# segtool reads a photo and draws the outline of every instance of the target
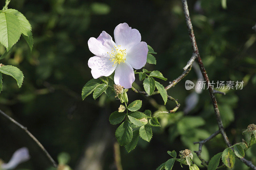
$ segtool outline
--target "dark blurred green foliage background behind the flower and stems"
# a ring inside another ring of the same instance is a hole
[[[194,26],[197,45],[210,80],[244,80],[243,90],[228,90],[226,96],[216,95],[220,114],[232,143],[241,142],[242,131],[256,122],[256,2],[227,0],[227,8],[221,0],[201,0],[201,9],[194,9],[196,1],[188,6]],[[4,1],[1,2],[4,6]],[[142,41],[157,52],[157,63],[146,64],[148,70],[159,70],[167,81],[177,78],[192,55],[187,27],[180,0],[144,1],[84,1],[84,0],[12,0],[9,8],[26,16],[32,26],[34,48],[32,53],[21,37],[12,53],[1,62],[14,65],[24,73],[22,87],[5,76],[0,95],[0,109],[28,127],[30,132],[57,160],[60,152],[71,156],[69,165],[76,168],[80,160],[99,160],[103,169],[115,169],[113,144],[117,125],[108,122],[109,115],[119,107],[119,101],[103,94],[96,101],[92,95],[81,99],[83,85],[92,78],[87,65],[89,51],[87,41],[106,31],[113,37],[115,26],[126,22],[140,31]],[[0,53],[5,48],[0,47]],[[193,90],[184,88],[185,80],[196,81],[192,68],[189,75],[168,91],[178,99],[181,107],[172,115],[159,116],[161,127],[153,128],[150,143],[139,139],[130,153],[121,147],[122,165],[125,169],[155,169],[170,159],[166,151],[193,151],[193,142],[208,137],[218,129],[212,103],[207,90],[200,94],[195,109],[183,116],[185,97]],[[143,88],[136,74],[136,83]],[[142,90],[142,89],[141,89]],[[144,98],[131,90],[129,101],[142,100],[141,111],[150,109],[170,110],[174,102],[166,106],[160,95],[154,100]],[[155,102],[156,101],[156,102]],[[140,110],[139,110],[140,111]],[[12,153],[29,143],[19,135],[15,127],[0,123],[0,158],[8,161]],[[98,142],[95,142],[98,141]],[[99,142],[100,141],[100,142]],[[93,144],[102,146],[95,151]],[[206,146],[206,147],[205,147]],[[220,135],[203,147],[203,158],[209,160],[222,152],[226,145]],[[93,149],[91,152],[84,152]],[[99,149],[98,149],[99,150]],[[39,169],[46,163],[37,161],[39,154],[20,167]],[[246,151],[246,158],[256,164],[256,147]],[[194,160],[200,165],[196,154]],[[91,161],[92,162],[92,161]],[[87,162],[88,163],[88,162]],[[178,163],[173,169],[179,169]],[[187,168],[184,167],[185,169]],[[248,169],[239,160],[235,169]]]

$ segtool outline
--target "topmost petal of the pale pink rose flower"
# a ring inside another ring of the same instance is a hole
[[[137,29],[132,29],[126,23],[116,26],[114,37],[116,44],[127,50],[141,41],[140,32]]]

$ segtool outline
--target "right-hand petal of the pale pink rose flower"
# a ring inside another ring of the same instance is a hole
[[[126,51],[126,62],[134,69],[141,69],[147,62],[148,45],[146,42],[140,42]]]

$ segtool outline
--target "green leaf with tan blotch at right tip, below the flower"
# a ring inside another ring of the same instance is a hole
[[[139,127],[148,123],[147,116],[141,112],[130,112],[128,118],[133,124]]]

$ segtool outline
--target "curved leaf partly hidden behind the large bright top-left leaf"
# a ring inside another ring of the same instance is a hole
[[[32,28],[31,28],[31,25],[29,24],[27,18],[22,13],[20,13],[19,11],[15,10],[15,9],[7,9],[4,12],[11,13],[11,14],[15,15],[19,19],[20,26],[21,26],[21,33],[28,36],[28,33],[31,32]]]

